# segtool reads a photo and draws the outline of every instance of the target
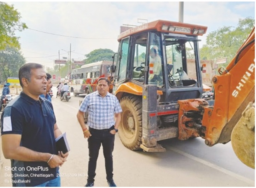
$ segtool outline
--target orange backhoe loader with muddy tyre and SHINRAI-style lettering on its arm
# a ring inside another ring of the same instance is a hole
[[[254,168],[254,29],[214,76],[215,99],[207,101],[200,99],[198,46],[206,31],[202,25],[156,20],[119,35],[110,69],[111,91],[123,110],[120,140],[148,152],[165,151],[158,141],[174,137],[202,137],[207,146],[231,141],[238,158]]]

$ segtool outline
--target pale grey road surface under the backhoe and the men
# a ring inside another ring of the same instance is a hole
[[[84,186],[88,166],[88,145],[76,119],[79,100],[69,102],[55,98],[53,107],[57,124],[66,132],[71,148],[68,161],[60,168],[61,186]],[[72,95],[73,93],[71,93]],[[208,147],[202,138],[188,141],[168,139],[160,142],[166,152],[148,153],[130,151],[115,136],[114,181],[117,186],[255,186],[255,170],[237,159],[231,144]],[[10,160],[4,159],[1,149],[2,169],[0,186],[12,186]],[[98,157],[95,186],[108,186],[102,148]]]

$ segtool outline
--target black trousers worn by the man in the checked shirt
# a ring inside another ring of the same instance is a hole
[[[102,144],[103,155],[105,158],[105,169],[107,174],[107,180],[113,180],[113,156],[115,135],[110,133],[110,130],[114,129],[112,126],[110,129],[92,129],[89,127],[92,136],[88,138],[89,149],[89,163],[88,163],[88,182],[94,182],[96,176],[97,159]]]

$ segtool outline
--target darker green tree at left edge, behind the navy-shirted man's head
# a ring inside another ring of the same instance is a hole
[[[25,64],[25,58],[14,47],[7,47],[0,51],[0,81],[3,83],[8,77],[19,77],[19,68]]]

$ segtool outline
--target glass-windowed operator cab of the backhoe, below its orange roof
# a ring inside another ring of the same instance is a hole
[[[121,38],[115,83],[157,85],[163,93],[159,100],[163,103],[199,98],[203,90],[200,40],[197,35],[188,34],[190,28],[184,28],[178,33],[163,28],[145,29]]]

